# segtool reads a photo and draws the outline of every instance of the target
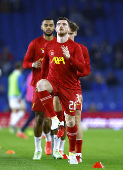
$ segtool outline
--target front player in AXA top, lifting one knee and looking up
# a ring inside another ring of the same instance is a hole
[[[69,163],[78,164],[75,154],[77,126],[76,89],[78,86],[78,71],[83,73],[85,61],[79,44],[68,37],[69,20],[61,17],[57,20],[57,41],[46,43],[42,63],[41,80],[37,83],[39,98],[45,109],[54,112],[51,94],[57,95],[65,111],[67,136],[69,139]],[[47,75],[47,68],[49,72]],[[47,75],[47,76],[46,76]],[[54,153],[54,150],[53,150]]]

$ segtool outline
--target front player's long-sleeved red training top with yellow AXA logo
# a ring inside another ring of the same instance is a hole
[[[68,47],[69,59],[66,59],[63,55],[61,48],[63,45]],[[48,67],[49,73],[46,77]],[[79,44],[71,39],[68,39],[65,43],[58,43],[57,40],[46,43],[41,78],[52,79],[66,88],[76,89],[77,71],[84,72],[84,70],[85,61]]]

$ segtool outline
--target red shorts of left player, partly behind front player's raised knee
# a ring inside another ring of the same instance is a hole
[[[33,98],[32,98],[32,111],[35,112],[45,112],[45,117],[50,117],[49,114],[45,111],[43,104],[41,103],[38,93],[35,92],[36,87],[33,87]]]

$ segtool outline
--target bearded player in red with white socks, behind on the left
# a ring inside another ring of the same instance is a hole
[[[45,18],[42,21],[41,29],[43,30],[43,36],[38,37],[31,41],[28,46],[27,53],[23,60],[23,67],[25,69],[32,68],[32,81],[33,86],[33,99],[32,99],[32,110],[35,111],[35,124],[34,124],[34,135],[35,135],[35,152],[34,160],[40,159],[42,155],[41,148],[41,134],[42,130],[46,134],[46,147],[45,153],[50,155],[51,150],[51,118],[54,115],[48,115],[45,111],[43,104],[40,102],[38,93],[36,93],[36,84],[41,79],[41,67],[44,57],[44,46],[48,41],[56,39],[53,36],[54,32],[54,21],[51,18]],[[48,71],[48,68],[47,68]],[[45,112],[45,116],[44,116]]]

